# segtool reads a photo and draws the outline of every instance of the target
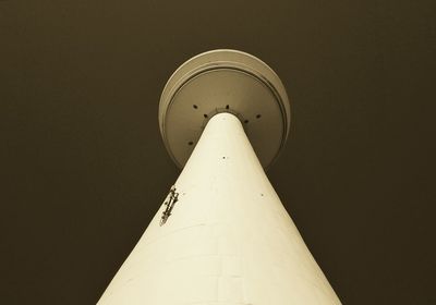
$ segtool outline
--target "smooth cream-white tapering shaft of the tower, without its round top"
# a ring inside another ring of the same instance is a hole
[[[98,304],[340,304],[234,115],[210,119],[175,187]]]

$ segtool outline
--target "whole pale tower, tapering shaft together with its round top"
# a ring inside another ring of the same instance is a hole
[[[268,65],[234,50],[192,58],[159,124],[182,173],[98,304],[340,304],[264,172],[290,125]]]

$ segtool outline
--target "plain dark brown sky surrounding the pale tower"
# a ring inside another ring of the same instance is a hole
[[[434,1],[0,1],[0,298],[95,304],[179,170],[157,109],[215,48],[272,66],[268,171],[344,304],[436,304]]]

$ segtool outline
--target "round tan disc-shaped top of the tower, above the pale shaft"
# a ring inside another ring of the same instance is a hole
[[[213,50],[183,63],[159,103],[164,143],[183,168],[207,121],[237,115],[264,168],[277,158],[289,133],[290,105],[283,84],[262,60],[237,50]]]

